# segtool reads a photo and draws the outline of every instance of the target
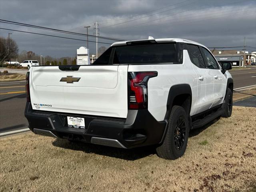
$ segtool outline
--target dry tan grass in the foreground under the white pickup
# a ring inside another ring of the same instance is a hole
[[[0,139],[0,191],[256,190],[256,108],[234,107],[190,133],[185,155],[122,150],[24,134]],[[207,142],[206,142],[207,141]]]

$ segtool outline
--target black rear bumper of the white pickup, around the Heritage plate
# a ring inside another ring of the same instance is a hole
[[[85,129],[68,127],[67,116],[85,118]],[[127,118],[123,119],[43,112],[33,110],[27,102],[25,117],[35,134],[120,148],[158,144],[166,127],[165,121],[158,122],[147,109],[128,110]]]

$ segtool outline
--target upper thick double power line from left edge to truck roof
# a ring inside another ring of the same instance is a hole
[[[69,31],[65,31],[65,30],[59,30],[59,29],[54,29],[54,28],[30,25],[30,24],[14,22],[14,21],[9,21],[9,20],[2,20],[2,19],[0,19],[0,22],[7,23],[7,24],[26,26],[26,27],[32,27],[32,28],[39,28],[39,29],[50,30],[50,31],[56,31],[56,32],[62,32],[62,33],[67,33],[67,34],[74,34],[74,35],[79,35],[79,36],[96,37],[94,35],[86,35],[86,34],[82,34],[82,33],[69,32]],[[110,37],[103,37],[103,36],[98,36],[98,38],[106,39],[106,40],[115,40],[115,41],[126,41],[125,39],[117,39],[117,38],[110,38]]]

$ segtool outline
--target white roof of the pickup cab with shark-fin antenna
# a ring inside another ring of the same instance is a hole
[[[144,41],[156,41],[156,42],[182,42],[182,43],[190,43],[190,44],[196,44],[203,47],[206,47],[198,42],[194,42],[191,40],[181,39],[181,38],[162,38],[162,39],[154,39],[152,37],[148,37],[148,39],[142,39],[142,40],[131,40],[131,41],[121,41],[121,42],[115,42],[111,46],[119,46],[119,45],[126,45],[129,42],[144,42]]]

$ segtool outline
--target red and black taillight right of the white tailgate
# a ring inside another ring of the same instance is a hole
[[[128,109],[148,107],[148,80],[157,72],[128,72]]]

